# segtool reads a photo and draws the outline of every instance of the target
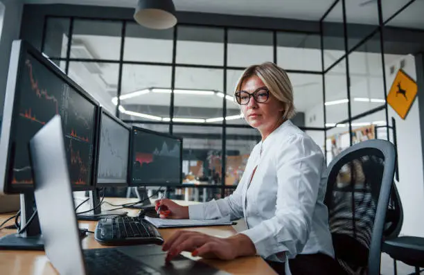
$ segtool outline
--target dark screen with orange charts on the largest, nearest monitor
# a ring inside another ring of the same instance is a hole
[[[9,180],[12,184],[33,184],[28,141],[60,114],[71,182],[91,184],[96,105],[33,55],[24,54],[15,90],[14,131],[10,137],[13,168]]]

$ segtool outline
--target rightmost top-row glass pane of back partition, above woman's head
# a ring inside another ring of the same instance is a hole
[[[321,37],[277,33],[277,64],[286,70],[322,71]]]

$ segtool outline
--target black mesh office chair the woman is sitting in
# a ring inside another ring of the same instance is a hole
[[[395,163],[394,145],[375,139],[344,150],[327,168],[324,203],[335,258],[347,274],[380,274]]]

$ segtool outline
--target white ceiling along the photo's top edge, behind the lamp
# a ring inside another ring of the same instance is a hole
[[[210,12],[227,15],[250,15],[318,21],[330,8],[334,0],[174,0],[180,11]],[[407,0],[382,1],[384,19],[389,18],[407,3]],[[136,0],[24,0],[24,3],[67,3],[91,6],[118,6],[134,8]],[[341,4],[330,12],[327,21],[342,21]],[[349,23],[376,24],[378,18],[377,0],[346,0]],[[416,0],[400,16],[391,22],[392,26],[424,28],[424,0]]]

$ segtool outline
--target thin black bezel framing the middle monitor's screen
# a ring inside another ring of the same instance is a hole
[[[112,113],[108,112],[107,109],[105,109],[105,107],[100,107],[100,115],[99,115],[99,121],[98,121],[98,136],[97,136],[97,152],[98,155],[96,157],[96,181],[94,182],[94,186],[96,186],[96,188],[103,188],[103,187],[122,187],[128,186],[128,179],[130,179],[130,154],[131,154],[131,144],[130,141],[128,141],[128,157],[127,157],[127,179],[125,183],[116,183],[116,182],[110,182],[110,183],[98,183],[98,166],[100,163],[100,136],[101,136],[101,129],[102,129],[102,115],[105,114],[107,117],[111,118],[113,121],[115,121],[116,123],[118,123],[119,125],[123,126],[125,129],[128,130],[128,139],[131,139],[131,134],[132,134],[132,128],[130,125],[127,125],[126,123],[124,123],[123,121],[121,121],[119,118],[117,118],[116,116],[114,116]]]

